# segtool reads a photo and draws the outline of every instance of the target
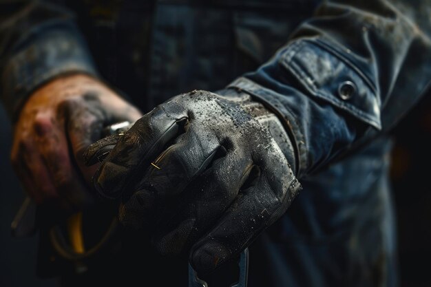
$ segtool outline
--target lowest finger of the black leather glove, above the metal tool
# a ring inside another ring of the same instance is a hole
[[[277,180],[261,176],[255,185],[238,195],[215,228],[191,248],[190,262],[198,273],[206,275],[238,257],[264,228],[286,211],[291,199],[280,195],[287,195],[291,187],[280,183],[285,179]],[[284,191],[277,190],[280,188]]]

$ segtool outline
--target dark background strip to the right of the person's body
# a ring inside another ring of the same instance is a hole
[[[392,185],[403,287],[431,286],[431,91],[392,132]]]

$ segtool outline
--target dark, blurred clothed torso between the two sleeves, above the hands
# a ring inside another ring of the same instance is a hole
[[[310,17],[312,0],[71,1],[102,76],[149,111],[255,70]]]

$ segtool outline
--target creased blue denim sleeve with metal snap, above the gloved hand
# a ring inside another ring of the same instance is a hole
[[[228,87],[284,119],[295,172],[306,176],[386,133],[417,103],[431,78],[430,5],[324,1],[272,59]]]

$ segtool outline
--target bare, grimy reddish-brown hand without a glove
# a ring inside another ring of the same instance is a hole
[[[61,214],[92,203],[88,184],[95,168],[83,151],[105,125],[142,114],[101,81],[84,74],[62,76],[37,89],[14,125],[12,166],[38,204]]]

